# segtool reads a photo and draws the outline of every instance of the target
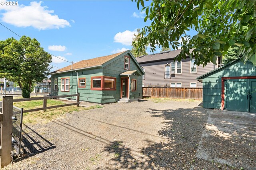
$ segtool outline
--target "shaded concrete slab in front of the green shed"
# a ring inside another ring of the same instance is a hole
[[[256,113],[207,109],[196,157],[236,168],[256,169]]]

